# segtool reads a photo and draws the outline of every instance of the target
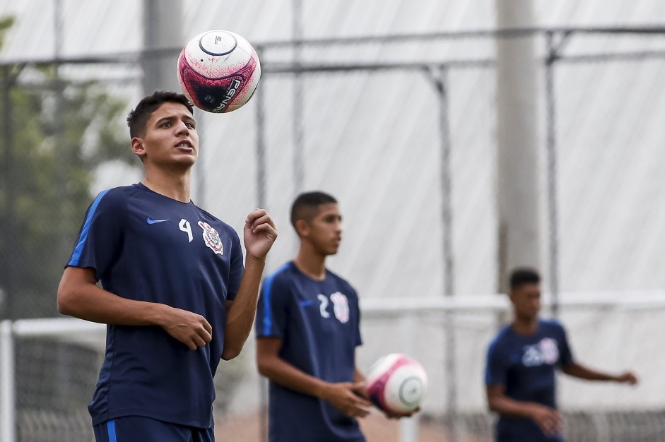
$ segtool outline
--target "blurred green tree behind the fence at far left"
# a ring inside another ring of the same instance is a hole
[[[3,30],[13,20],[0,20]],[[0,46],[1,47],[1,46]],[[2,66],[0,290],[4,315],[57,315],[59,278],[93,198],[95,169],[136,164],[122,126],[125,103],[58,66]]]

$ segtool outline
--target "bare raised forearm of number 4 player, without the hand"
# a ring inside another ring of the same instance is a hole
[[[224,350],[222,359],[228,361],[240,354],[252,331],[254,316],[257,314],[259,301],[259,285],[261,275],[266,265],[265,258],[252,258],[247,256],[245,272],[233,304],[226,316],[226,329],[224,333]]]

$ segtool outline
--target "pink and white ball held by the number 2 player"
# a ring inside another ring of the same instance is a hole
[[[387,412],[411,412],[420,407],[427,390],[427,374],[420,362],[401,353],[379,358],[367,371],[367,393]]]

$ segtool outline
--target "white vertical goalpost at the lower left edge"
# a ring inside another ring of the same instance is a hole
[[[14,342],[10,320],[0,323],[0,441],[16,441]]]

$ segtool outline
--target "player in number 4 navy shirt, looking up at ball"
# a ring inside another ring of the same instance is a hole
[[[61,277],[59,311],[108,324],[88,406],[98,442],[213,441],[213,376],[252,330],[277,232],[265,210],[249,213],[243,266],[235,230],[190,200],[192,112],[162,91],[130,112],[145,178],[95,198]]]

